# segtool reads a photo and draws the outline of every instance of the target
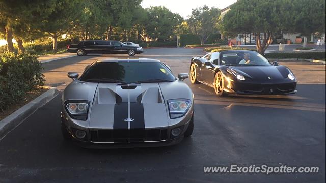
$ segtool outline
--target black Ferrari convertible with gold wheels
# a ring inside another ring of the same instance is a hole
[[[286,95],[296,93],[296,78],[289,68],[269,63],[255,51],[228,50],[193,57],[191,82],[213,87],[216,95]]]

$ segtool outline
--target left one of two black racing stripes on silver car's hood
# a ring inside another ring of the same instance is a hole
[[[128,118],[128,104],[115,104],[113,121],[114,142],[128,142],[128,122],[124,121],[126,118]]]

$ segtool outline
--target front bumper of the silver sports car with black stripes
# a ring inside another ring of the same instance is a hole
[[[178,123],[169,127],[158,127],[151,129],[95,129],[80,125],[80,121],[72,119],[66,110],[61,112],[62,124],[66,127],[73,141],[85,148],[132,148],[169,146],[182,141],[185,131],[193,115],[193,106],[187,114],[180,118]],[[90,118],[90,117],[89,117]],[[88,124],[89,121],[84,121]],[[171,130],[180,128],[179,136],[173,136]],[[83,130],[86,136],[78,139],[76,130]]]

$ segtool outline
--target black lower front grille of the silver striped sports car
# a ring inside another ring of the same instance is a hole
[[[114,129],[114,130],[90,130],[92,142],[144,142],[161,141],[167,139],[167,129]]]

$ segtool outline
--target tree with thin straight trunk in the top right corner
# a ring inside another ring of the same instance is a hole
[[[324,0],[279,0],[284,11],[280,21],[284,31],[300,33],[304,36],[304,47],[307,47],[307,36],[316,32],[325,32],[325,1]]]

